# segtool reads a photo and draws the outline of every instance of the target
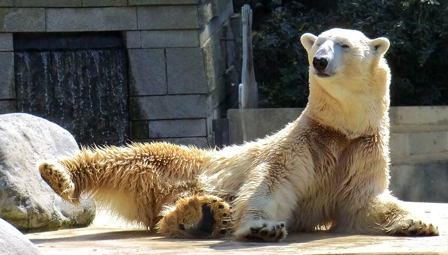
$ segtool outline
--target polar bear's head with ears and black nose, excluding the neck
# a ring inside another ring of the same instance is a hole
[[[371,67],[378,66],[389,49],[387,38],[371,40],[360,31],[341,28],[330,29],[319,37],[306,33],[300,39],[308,52],[310,78],[320,84],[367,79],[372,75]]]

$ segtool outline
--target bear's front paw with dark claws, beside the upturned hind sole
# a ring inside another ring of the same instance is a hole
[[[238,240],[255,240],[275,242],[282,240],[287,235],[285,223],[256,220],[245,224],[235,232]]]

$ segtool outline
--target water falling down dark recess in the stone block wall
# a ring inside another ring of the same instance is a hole
[[[59,124],[82,145],[126,142],[124,50],[15,51],[14,58],[18,111]]]

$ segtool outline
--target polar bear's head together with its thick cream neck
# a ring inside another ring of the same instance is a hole
[[[334,28],[319,36],[306,33],[301,42],[310,64],[309,111],[347,133],[376,129],[389,107],[390,72],[383,58],[389,40]]]

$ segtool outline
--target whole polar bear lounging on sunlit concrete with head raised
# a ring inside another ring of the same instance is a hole
[[[278,241],[287,231],[439,235],[389,190],[386,38],[306,33],[310,95],[300,117],[240,146],[82,149],[39,166],[64,199],[82,193],[170,237]]]

